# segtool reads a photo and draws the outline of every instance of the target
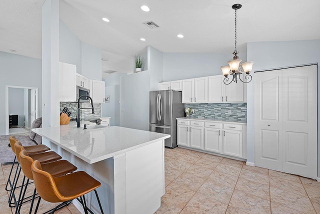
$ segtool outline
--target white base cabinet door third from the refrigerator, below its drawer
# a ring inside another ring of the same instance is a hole
[[[222,152],[222,130],[217,128],[204,128],[204,150]]]

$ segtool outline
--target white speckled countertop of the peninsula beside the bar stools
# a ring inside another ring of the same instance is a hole
[[[170,137],[169,134],[119,126],[83,129],[83,125],[77,128],[70,124],[32,128],[32,131],[88,163],[107,159]]]

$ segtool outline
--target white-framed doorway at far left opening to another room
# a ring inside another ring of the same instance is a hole
[[[5,134],[9,134],[10,125],[14,125],[16,127],[30,127],[32,121],[39,116],[38,90],[39,89],[37,87],[5,86]],[[18,108],[12,109],[12,107],[15,106],[18,106]],[[18,121],[15,121],[15,123],[12,124],[11,117],[17,118]]]

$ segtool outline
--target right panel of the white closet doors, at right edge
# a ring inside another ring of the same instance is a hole
[[[282,70],[283,171],[317,177],[316,65]]]

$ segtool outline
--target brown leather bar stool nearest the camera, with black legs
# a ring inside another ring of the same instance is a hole
[[[34,186],[40,195],[36,204],[35,212],[39,206],[40,199],[43,198],[48,202],[62,202],[56,206],[51,213],[53,213],[61,205],[70,200],[77,199],[81,202],[82,207],[87,211],[92,211],[86,206],[84,194],[94,191],[98,201],[101,213],[103,213],[102,206],[98,197],[96,188],[101,185],[99,181],[88,175],[84,171],[76,171],[59,177],[52,177],[46,171],[43,171],[38,160],[34,160],[31,164],[31,171],[34,180]]]

